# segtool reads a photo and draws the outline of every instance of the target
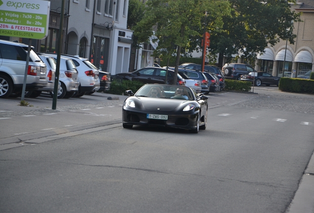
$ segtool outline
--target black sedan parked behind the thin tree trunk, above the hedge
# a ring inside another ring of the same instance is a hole
[[[167,82],[166,81],[167,75]],[[172,84],[174,71],[159,67],[146,67],[133,72],[118,73],[115,76],[122,77],[123,80],[137,80],[143,83]],[[177,75],[177,85],[185,85],[185,81],[179,74]]]

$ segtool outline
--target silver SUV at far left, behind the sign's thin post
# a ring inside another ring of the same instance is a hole
[[[30,51],[25,91],[38,90],[48,83],[46,65],[33,48]],[[22,93],[27,49],[26,44],[0,40],[0,98]]]

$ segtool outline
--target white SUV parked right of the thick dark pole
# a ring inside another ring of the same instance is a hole
[[[55,53],[46,53],[51,54],[54,57],[57,55]],[[88,59],[81,58],[79,56],[72,56],[61,54],[63,58],[72,59],[77,70],[79,71],[79,91],[74,94],[73,97],[81,97],[85,93],[89,93],[93,90],[97,91],[100,88],[100,81],[98,79],[99,70],[92,64]]]

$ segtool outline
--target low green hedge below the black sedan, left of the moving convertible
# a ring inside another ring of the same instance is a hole
[[[113,80],[110,85],[110,90],[104,91],[104,93],[123,95],[126,90],[132,90],[135,93],[144,84],[140,81],[130,81],[130,80]]]

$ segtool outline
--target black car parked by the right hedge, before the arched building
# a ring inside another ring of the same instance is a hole
[[[280,77],[276,77],[271,75],[270,73],[257,71],[257,72],[250,72],[247,75],[241,75],[240,80],[242,81],[251,81],[254,82],[255,86],[261,86],[262,84],[269,86],[269,85],[279,85]]]

